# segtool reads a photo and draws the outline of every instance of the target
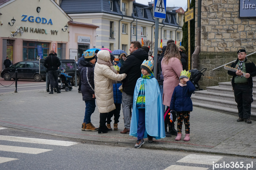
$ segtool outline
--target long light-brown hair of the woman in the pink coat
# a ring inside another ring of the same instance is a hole
[[[177,58],[179,59],[179,62],[181,63],[180,59],[181,56],[179,54],[179,48],[174,43],[169,43],[166,47],[166,51],[164,53],[163,61],[165,64],[168,64],[171,58]]]

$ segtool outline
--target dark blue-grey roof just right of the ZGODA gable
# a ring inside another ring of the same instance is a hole
[[[117,0],[113,1],[113,11],[110,10],[108,0],[62,0],[61,8],[67,14],[98,13],[122,15]]]

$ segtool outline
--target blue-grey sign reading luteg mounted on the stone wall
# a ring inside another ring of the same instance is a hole
[[[239,1],[239,18],[256,17],[256,1],[240,0]]]

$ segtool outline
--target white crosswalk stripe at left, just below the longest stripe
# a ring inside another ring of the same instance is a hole
[[[20,146],[9,146],[9,145],[0,145],[1,151],[7,152],[18,152],[18,153],[29,153],[29,154],[38,154],[50,151],[50,149],[40,149],[40,148],[28,148]]]

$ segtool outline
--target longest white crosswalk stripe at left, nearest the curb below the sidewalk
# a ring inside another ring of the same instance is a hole
[[[0,140],[7,140],[12,142],[26,142],[46,145],[58,145],[58,146],[71,146],[77,144],[77,142],[69,142],[63,140],[50,140],[50,139],[37,139],[30,137],[17,137],[17,136],[4,136],[0,135]]]

